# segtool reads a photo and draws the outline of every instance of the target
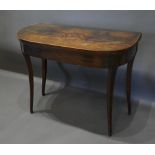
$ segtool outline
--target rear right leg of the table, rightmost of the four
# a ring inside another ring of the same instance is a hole
[[[127,104],[128,104],[128,115],[131,114],[131,76],[132,76],[132,66],[134,59],[132,59],[127,64],[127,74],[126,74],[126,95],[127,95]]]

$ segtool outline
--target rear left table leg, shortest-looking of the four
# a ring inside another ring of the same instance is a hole
[[[42,59],[42,95],[45,96],[45,85],[47,75],[47,59]]]

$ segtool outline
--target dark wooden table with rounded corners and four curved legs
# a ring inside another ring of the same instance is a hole
[[[142,34],[101,28],[36,24],[21,29],[17,38],[26,60],[30,83],[30,112],[33,113],[34,81],[31,57],[42,61],[42,95],[45,95],[47,60],[94,68],[107,75],[108,135],[112,135],[113,89],[117,68],[127,64],[126,96],[131,114],[131,73]],[[95,103],[94,103],[95,104]]]

